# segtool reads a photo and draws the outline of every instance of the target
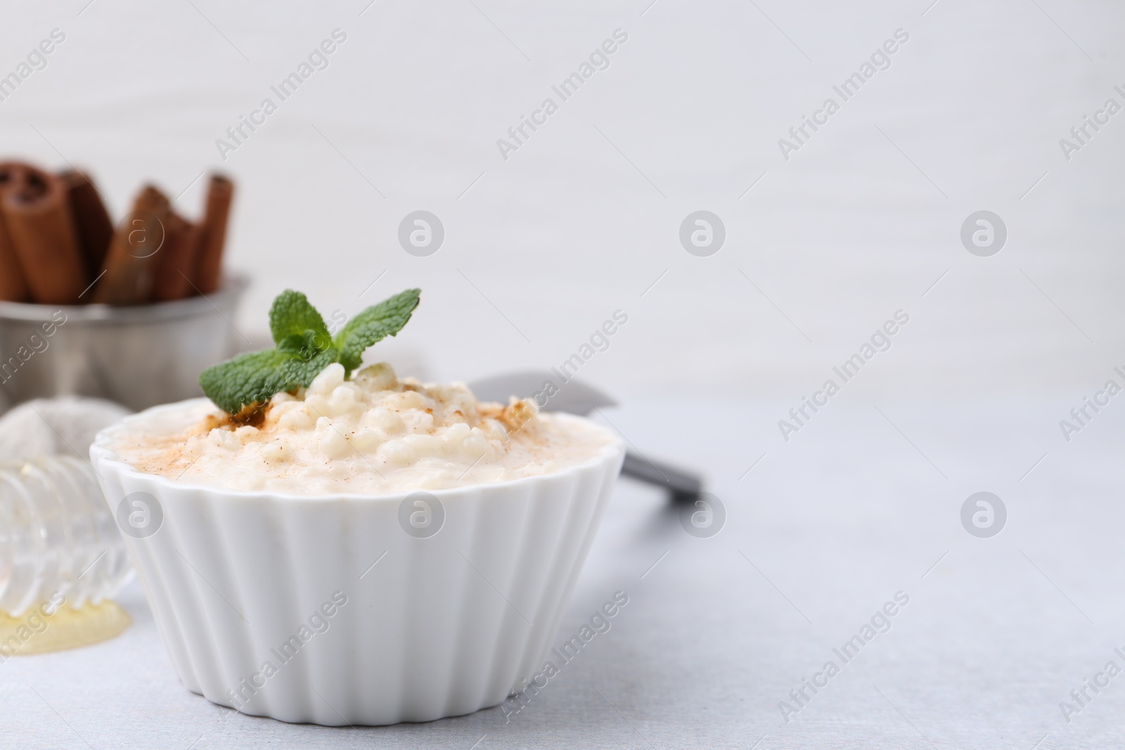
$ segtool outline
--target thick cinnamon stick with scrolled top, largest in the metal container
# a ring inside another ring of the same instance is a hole
[[[90,280],[63,181],[28,168],[26,179],[0,196],[0,213],[33,300],[79,304]]]

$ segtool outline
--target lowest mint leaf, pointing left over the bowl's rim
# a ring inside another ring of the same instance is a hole
[[[335,349],[310,356],[279,349],[248,352],[204,370],[199,385],[220,409],[238,414],[249,406],[264,404],[282,390],[308,386],[335,361]]]

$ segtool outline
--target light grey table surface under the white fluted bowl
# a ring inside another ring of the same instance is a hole
[[[132,584],[120,638],[0,665],[0,746],[1122,747],[1125,677],[1088,690],[1070,722],[1059,705],[1107,661],[1125,666],[1125,412],[1104,409],[1066,443],[1071,406],[842,399],[788,443],[789,405],[606,412],[646,453],[704,468],[727,519],[690,536],[622,481],[556,643],[614,591],[629,604],[510,721],[493,708],[328,729],[219,710],[180,685]],[[961,524],[979,490],[1008,510],[991,539]],[[909,604],[844,663],[834,648],[897,591]],[[829,660],[839,674],[784,721],[778,702]]]

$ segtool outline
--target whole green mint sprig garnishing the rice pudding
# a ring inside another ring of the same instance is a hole
[[[344,367],[346,377],[361,364],[363,350],[403,329],[421,293],[420,289],[407,289],[372,305],[333,337],[305,295],[286,289],[270,307],[270,333],[276,346],[240,354],[204,370],[199,386],[220,409],[245,417],[274,394],[308,387],[333,362]]]

